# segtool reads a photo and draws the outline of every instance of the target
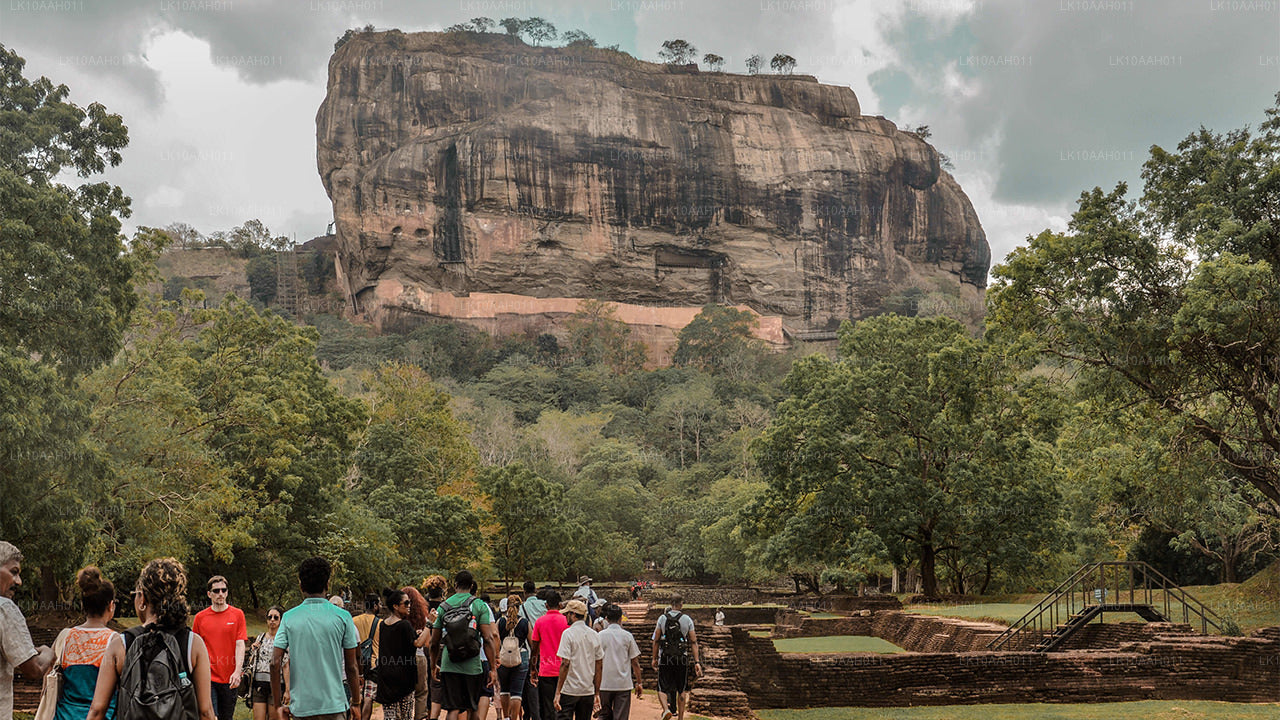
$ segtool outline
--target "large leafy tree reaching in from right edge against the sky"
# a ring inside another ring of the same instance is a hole
[[[1181,416],[1280,518],[1280,95],[1254,135],[1153,146],[1144,193],[1084,192],[993,270],[988,328],[1119,404]]]

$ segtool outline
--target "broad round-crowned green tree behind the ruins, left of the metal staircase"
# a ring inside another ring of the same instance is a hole
[[[940,555],[989,578],[1056,542],[1052,455],[998,354],[955,320],[896,315],[846,324],[840,354],[795,365],[759,445],[755,512],[782,557],[837,532],[873,559],[869,532],[936,596]]]

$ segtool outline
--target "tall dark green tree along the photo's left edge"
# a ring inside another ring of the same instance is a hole
[[[41,594],[55,600],[92,532],[99,471],[74,378],[120,347],[161,238],[143,229],[125,247],[128,197],[91,179],[120,163],[120,117],[24,67],[0,46],[0,536],[41,559]],[[59,182],[70,173],[87,182]]]

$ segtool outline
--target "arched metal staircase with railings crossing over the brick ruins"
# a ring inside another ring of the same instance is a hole
[[[987,646],[1033,652],[1057,650],[1106,612],[1134,612],[1148,623],[1181,621],[1208,634],[1222,619],[1158,570],[1138,561],[1093,562],[1071,574]]]

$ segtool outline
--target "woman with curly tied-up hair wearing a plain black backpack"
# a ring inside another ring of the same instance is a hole
[[[198,715],[201,720],[214,720],[209,648],[204,638],[187,628],[187,570],[182,562],[173,557],[147,562],[133,591],[133,609],[142,624],[118,633],[106,644],[87,720],[105,720],[113,702],[116,717],[133,717],[143,697],[161,693],[177,693],[175,710],[182,717]],[[141,662],[140,656],[145,652],[150,656],[157,646],[152,664],[165,662],[186,673],[177,687],[169,682],[173,678],[169,673],[146,673],[141,679],[120,676],[127,662]]]

